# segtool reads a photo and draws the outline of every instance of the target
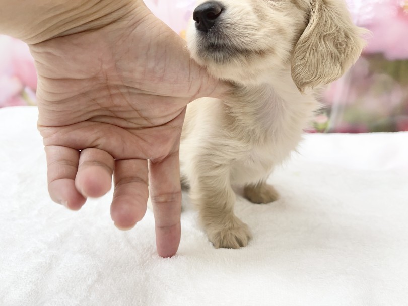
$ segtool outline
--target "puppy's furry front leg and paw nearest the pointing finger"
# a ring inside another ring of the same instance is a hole
[[[239,249],[248,244],[251,233],[248,225],[234,214],[235,193],[229,184],[229,173],[220,176],[217,172],[217,176],[196,178],[190,189],[191,201],[214,246]]]

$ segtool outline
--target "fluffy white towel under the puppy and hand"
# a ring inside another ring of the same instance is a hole
[[[36,119],[0,109],[0,305],[408,305],[408,132],[307,135],[278,202],[238,197],[246,248],[214,249],[187,208],[163,259],[151,211],[121,232],[112,193],[51,202]]]

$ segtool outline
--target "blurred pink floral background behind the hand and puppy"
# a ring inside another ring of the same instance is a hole
[[[145,0],[184,35],[195,0]],[[362,57],[321,97],[310,132],[408,131],[408,0],[347,0],[354,22],[372,32]],[[33,59],[23,42],[0,35],[0,107],[35,105]]]

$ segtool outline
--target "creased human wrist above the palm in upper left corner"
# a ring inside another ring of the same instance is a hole
[[[142,0],[0,0],[0,33],[28,44],[109,25],[138,7]]]

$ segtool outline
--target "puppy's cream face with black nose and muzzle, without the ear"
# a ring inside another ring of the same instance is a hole
[[[215,77],[237,83],[266,81],[271,71],[290,63],[307,24],[296,0],[200,3],[187,29],[189,51]]]

